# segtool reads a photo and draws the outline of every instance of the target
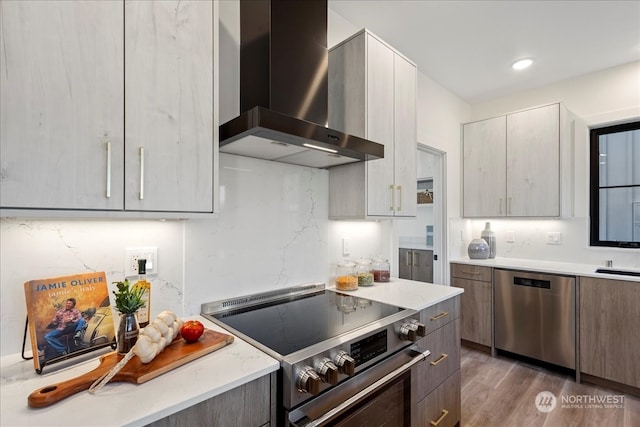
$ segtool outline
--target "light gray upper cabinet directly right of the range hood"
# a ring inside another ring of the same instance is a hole
[[[384,159],[329,171],[329,217],[416,215],[415,65],[367,30],[329,52],[329,127],[383,144]]]

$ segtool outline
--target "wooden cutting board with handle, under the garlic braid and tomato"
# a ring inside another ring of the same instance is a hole
[[[165,347],[149,363],[142,363],[139,357],[134,356],[110,382],[142,384],[232,342],[233,336],[210,329],[205,329],[200,339],[194,343],[187,343],[178,336],[171,345]],[[31,393],[27,399],[29,406],[43,408],[73,394],[88,390],[95,380],[109,372],[123,357],[115,351],[101,356],[100,365],[94,370],[67,381],[42,387]]]

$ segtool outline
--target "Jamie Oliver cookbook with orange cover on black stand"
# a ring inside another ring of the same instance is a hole
[[[30,280],[24,291],[36,372],[46,364],[106,346],[115,348],[104,272]]]

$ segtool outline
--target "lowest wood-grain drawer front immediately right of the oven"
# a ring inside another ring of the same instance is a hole
[[[418,403],[415,425],[452,427],[460,421],[460,371]]]

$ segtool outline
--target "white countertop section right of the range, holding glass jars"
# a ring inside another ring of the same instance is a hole
[[[329,289],[414,310],[422,310],[464,292],[463,289],[452,286],[434,285],[396,277],[392,277],[390,282],[376,282],[373,286],[368,287],[360,286],[355,291],[337,291],[335,287]]]

